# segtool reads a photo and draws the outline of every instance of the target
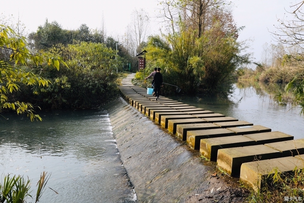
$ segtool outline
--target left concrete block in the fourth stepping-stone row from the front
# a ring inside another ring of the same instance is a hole
[[[212,124],[212,123],[209,123]],[[200,130],[200,134],[187,133],[187,144],[192,149],[199,149],[201,139],[212,137],[226,137],[235,135],[235,133],[231,130],[227,130],[226,128],[218,128],[218,129],[210,129],[210,130]]]

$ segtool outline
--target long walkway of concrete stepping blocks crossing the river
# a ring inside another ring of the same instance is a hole
[[[134,74],[122,82],[122,97],[168,133],[198,150],[207,160],[216,161],[217,167],[257,190],[263,179],[278,168],[290,172],[295,166],[304,168],[304,139],[282,132],[239,121],[232,117],[196,108],[169,98],[155,97],[147,90],[131,83]],[[293,157],[295,156],[295,157]],[[286,162],[288,167],[279,163]],[[263,166],[263,167],[261,167]]]

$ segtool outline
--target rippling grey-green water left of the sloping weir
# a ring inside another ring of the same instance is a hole
[[[0,172],[32,180],[51,173],[40,202],[134,202],[107,112],[40,112],[43,122],[0,120]],[[28,200],[31,202],[31,200]]]

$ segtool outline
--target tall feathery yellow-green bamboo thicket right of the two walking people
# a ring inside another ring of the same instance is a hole
[[[194,93],[198,88],[219,92],[231,87],[235,69],[249,63],[249,55],[240,54],[242,45],[234,35],[216,36],[218,30],[214,28],[197,38],[195,30],[184,30],[182,24],[180,30],[164,38],[149,38],[148,70],[161,67],[164,81],[187,93]]]

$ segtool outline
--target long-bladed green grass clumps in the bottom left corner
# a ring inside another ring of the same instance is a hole
[[[43,194],[44,187],[50,178],[50,174],[46,172],[41,173],[40,180],[37,183],[38,189],[36,192],[36,202],[39,201]],[[30,180],[24,179],[23,176],[4,176],[0,183],[0,202],[1,203],[25,203],[30,195]]]

